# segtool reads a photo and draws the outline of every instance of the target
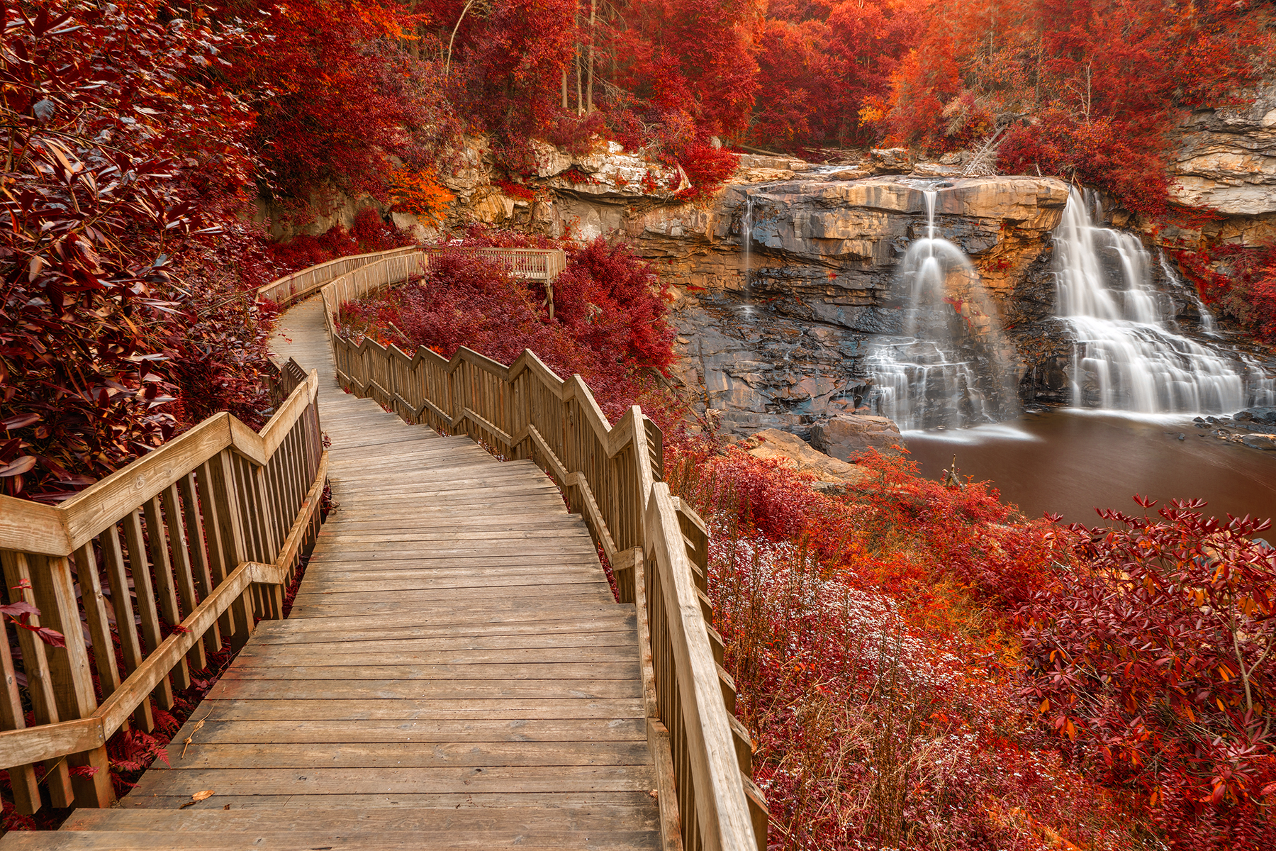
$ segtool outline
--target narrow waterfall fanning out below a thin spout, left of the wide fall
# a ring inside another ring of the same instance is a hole
[[[923,194],[926,235],[909,245],[902,267],[905,336],[869,352],[870,404],[903,430],[1005,418],[1017,406],[997,313],[966,254],[938,236],[938,190]]]

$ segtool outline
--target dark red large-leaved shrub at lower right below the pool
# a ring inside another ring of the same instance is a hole
[[[1252,540],[1267,521],[1202,505],[1074,527],[1081,566],[1017,614],[1025,695],[1078,764],[1145,796],[1171,847],[1272,847],[1276,550]]]

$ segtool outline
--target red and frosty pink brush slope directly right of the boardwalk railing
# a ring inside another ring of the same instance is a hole
[[[1129,848],[1131,810],[1041,734],[1008,612],[1071,535],[870,454],[845,495],[674,441],[780,848]],[[1012,582],[1013,581],[1013,582]]]

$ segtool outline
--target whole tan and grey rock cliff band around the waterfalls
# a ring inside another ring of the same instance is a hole
[[[1276,85],[1248,107],[1192,114],[1178,139],[1176,200],[1225,217],[1148,239],[1276,236]],[[1059,180],[962,177],[961,153],[915,162],[907,151],[873,151],[855,166],[745,156],[730,185],[689,204],[680,202],[690,185],[680,168],[615,143],[570,153],[533,140],[531,152],[530,172],[512,182],[486,140],[467,139],[441,177],[457,200],[440,230],[482,222],[579,241],[628,239],[672,286],[689,398],[727,431],[818,439],[828,417],[868,412],[865,360],[875,336],[902,330],[900,263],[926,233],[928,190],[937,191],[937,236],[971,258],[983,287],[949,278],[954,322],[977,333],[995,314],[1008,329],[1008,338],[989,338],[997,352],[971,356],[1008,359],[1023,399],[1067,401],[1071,344],[1053,318],[1050,267],[1050,232],[1068,199]],[[352,219],[355,209],[334,216]],[[426,239],[440,233],[394,219]],[[1179,320],[1194,324],[1193,293],[1164,283]],[[1000,392],[1016,393],[1013,383]]]

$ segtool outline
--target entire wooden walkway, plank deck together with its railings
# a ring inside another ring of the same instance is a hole
[[[563,262],[505,254],[532,277]],[[59,508],[0,498],[8,586],[74,637],[18,635],[29,727],[0,642],[0,764],[22,811],[78,805],[0,851],[766,847],[708,535],[660,481],[660,431],[637,407],[609,424],[531,352],[507,367],[334,333],[345,300],[430,256],[265,288],[323,296],[282,318],[260,434],[222,413]],[[114,801],[106,740],[149,730],[226,643],[167,763]]]

